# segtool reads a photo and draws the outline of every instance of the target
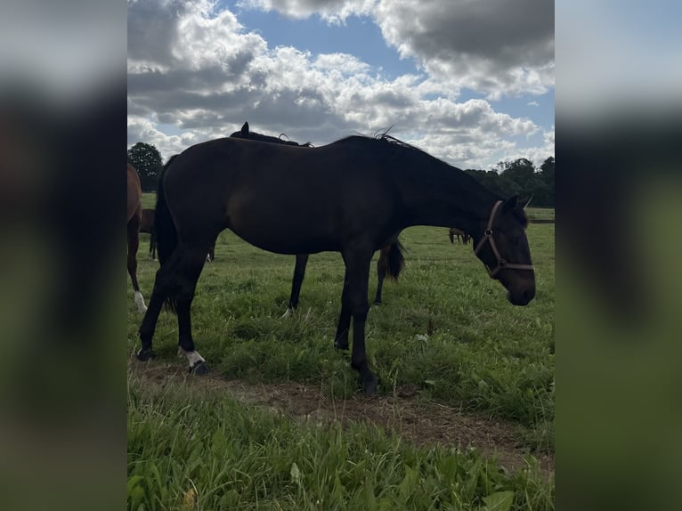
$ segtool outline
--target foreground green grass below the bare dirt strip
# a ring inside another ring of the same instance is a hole
[[[314,426],[211,392],[129,378],[129,509],[551,509],[528,458],[416,448],[363,424]]]

